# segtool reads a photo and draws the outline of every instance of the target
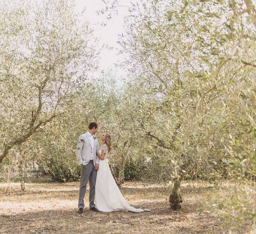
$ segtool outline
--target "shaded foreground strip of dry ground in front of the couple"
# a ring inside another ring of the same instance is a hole
[[[115,211],[83,214],[74,209],[52,209],[0,216],[0,233],[219,233],[223,220],[211,213],[198,215],[196,203],[186,203],[178,211],[165,202],[144,202],[136,208],[150,212]]]

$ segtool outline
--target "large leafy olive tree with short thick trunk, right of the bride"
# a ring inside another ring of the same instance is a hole
[[[251,187],[255,172],[252,2],[144,1],[142,7],[130,9],[121,52],[130,75],[145,87],[142,93],[157,99],[145,101],[139,109],[152,151],[165,152],[162,158],[172,164],[173,177],[179,180],[242,176]],[[181,201],[178,190],[173,192],[176,196],[170,200]],[[241,203],[236,208],[246,213]]]

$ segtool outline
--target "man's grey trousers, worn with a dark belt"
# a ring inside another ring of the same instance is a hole
[[[96,176],[97,176],[97,171],[94,170],[93,162],[88,162],[88,164],[83,165],[81,169],[78,208],[84,208],[84,195],[86,192],[86,185],[88,180],[90,184],[89,205],[90,205],[90,208],[95,207],[94,197],[95,197]]]

